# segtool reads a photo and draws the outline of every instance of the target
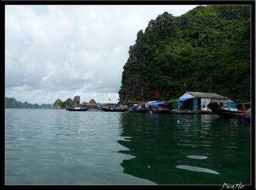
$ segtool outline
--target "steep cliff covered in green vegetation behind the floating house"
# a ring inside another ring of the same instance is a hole
[[[121,103],[168,101],[185,91],[251,101],[251,6],[198,6],[180,17],[164,12],[137,33],[123,69]]]

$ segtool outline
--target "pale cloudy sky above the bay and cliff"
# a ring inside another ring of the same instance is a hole
[[[137,33],[197,5],[5,5],[5,97],[53,104],[119,102]]]

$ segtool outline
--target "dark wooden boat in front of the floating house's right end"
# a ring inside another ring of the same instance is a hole
[[[219,117],[231,118],[231,119],[241,118],[241,117],[251,118],[251,112],[241,111],[236,109],[228,110],[226,108],[220,108],[220,105],[215,102],[211,102],[210,104],[207,105],[207,107]]]

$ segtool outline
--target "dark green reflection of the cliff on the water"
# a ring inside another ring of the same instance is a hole
[[[235,171],[237,176],[231,178],[226,166],[235,159],[234,152],[236,156],[242,155],[237,149],[244,150],[243,144],[233,144],[232,140],[239,139],[242,133],[237,131],[238,121],[220,120],[215,115],[130,113],[122,114],[120,123],[125,140],[118,143],[128,150],[119,152],[133,156],[120,163],[124,173],[158,185],[219,185],[225,180],[234,184],[239,181],[239,172]],[[246,171],[243,173],[248,176]]]

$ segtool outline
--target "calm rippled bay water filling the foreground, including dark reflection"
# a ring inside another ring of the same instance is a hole
[[[5,109],[6,185],[224,183],[252,183],[251,124],[242,120]]]

